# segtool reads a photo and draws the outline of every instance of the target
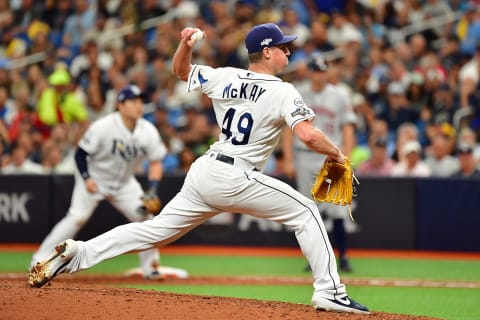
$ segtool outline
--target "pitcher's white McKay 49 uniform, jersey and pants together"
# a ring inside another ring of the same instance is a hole
[[[221,212],[249,214],[282,223],[295,237],[314,277],[314,296],[346,297],[335,254],[317,205],[290,185],[258,171],[280,139],[314,114],[295,88],[281,79],[237,68],[192,66],[187,90],[213,101],[219,141],[190,167],[180,192],[160,214],[77,241],[75,272],[132,250],[162,247]],[[255,170],[257,169],[257,170]]]

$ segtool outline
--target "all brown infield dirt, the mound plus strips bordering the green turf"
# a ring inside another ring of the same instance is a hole
[[[0,245],[6,251],[31,251],[34,246]],[[170,254],[231,255],[242,250],[209,248],[165,248]],[[208,250],[212,250],[209,252]],[[249,248],[245,255],[255,255]],[[298,250],[259,250],[259,255],[300,256]],[[456,258],[478,260],[478,254],[372,252],[354,251],[352,256],[382,256],[402,258]],[[418,255],[418,256],[417,256]],[[26,274],[0,274],[0,319],[2,320],[88,320],[88,319],[175,319],[175,320],[275,320],[275,319],[324,319],[324,320],[416,320],[430,317],[372,312],[371,315],[353,315],[319,312],[311,306],[294,303],[261,301],[253,299],[224,298],[159,291],[118,288],[120,284],[151,284],[142,278],[126,278],[112,275],[61,275],[41,289],[27,285]],[[310,284],[311,279],[285,277],[191,277],[168,279],[165,284]],[[378,279],[344,279],[347,285],[373,286],[429,286],[480,288],[480,283],[395,281]]]

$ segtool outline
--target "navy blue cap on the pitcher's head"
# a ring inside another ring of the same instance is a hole
[[[248,53],[260,52],[263,48],[292,42],[297,36],[286,36],[275,23],[264,23],[253,27],[245,37]]]

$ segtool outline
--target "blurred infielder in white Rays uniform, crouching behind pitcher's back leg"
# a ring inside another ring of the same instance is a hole
[[[67,215],[57,223],[32,257],[31,266],[51,254],[52,247],[73,238],[90,219],[101,200],[108,200],[129,221],[153,216],[141,210],[143,189],[135,179],[135,168],[149,160],[148,179],[152,192],[162,178],[166,147],[157,129],[142,118],[141,91],[135,85],[118,94],[118,112],[95,121],[79,142],[75,154],[78,171]],[[140,208],[140,209],[139,209]],[[159,279],[157,249],[139,253],[143,275]]]

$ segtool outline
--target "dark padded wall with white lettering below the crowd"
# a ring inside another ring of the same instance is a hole
[[[0,175],[0,242],[41,242],[67,212],[73,183],[70,175]],[[183,176],[166,176],[158,190],[162,201],[171,199],[182,183]],[[362,178],[352,206],[349,246],[480,252],[479,208],[480,180]],[[102,202],[78,239],[126,222]],[[291,230],[235,213],[224,213],[175,243],[297,246]]]

